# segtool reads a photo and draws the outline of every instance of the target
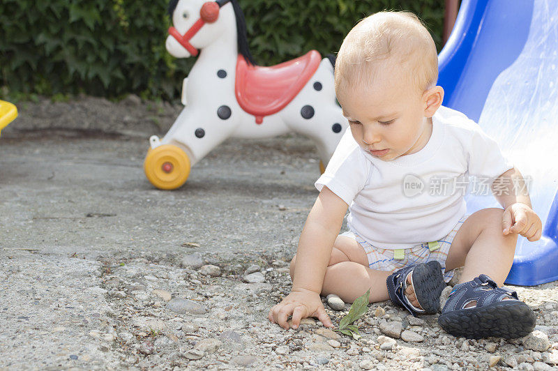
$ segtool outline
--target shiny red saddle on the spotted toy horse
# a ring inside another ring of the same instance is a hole
[[[239,54],[236,60],[236,100],[244,111],[262,123],[285,108],[316,72],[322,60],[319,52],[310,52],[276,66],[252,66]]]

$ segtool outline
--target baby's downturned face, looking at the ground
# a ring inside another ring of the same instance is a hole
[[[431,133],[421,94],[389,77],[379,78],[372,89],[338,93],[356,142],[384,161],[418,152]]]

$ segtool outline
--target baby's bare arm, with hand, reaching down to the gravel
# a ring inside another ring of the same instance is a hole
[[[297,328],[302,318],[317,317],[331,327],[331,319],[319,298],[324,275],[331,258],[333,243],[341,229],[347,204],[329,188],[324,187],[310,210],[296,250],[291,293],[269,311],[269,320],[288,329],[287,319]]]

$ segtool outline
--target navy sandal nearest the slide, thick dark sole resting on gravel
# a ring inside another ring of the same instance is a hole
[[[504,298],[508,298],[504,300]],[[468,303],[476,305],[465,308]],[[456,338],[481,339],[494,336],[521,338],[535,327],[535,313],[518,299],[518,294],[481,274],[453,287],[438,323]]]

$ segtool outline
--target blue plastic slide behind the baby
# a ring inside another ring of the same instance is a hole
[[[439,70],[444,105],[477,121],[531,179],[543,236],[519,236],[506,283],[558,280],[558,1],[463,0]],[[501,206],[467,196],[467,213],[486,207]]]

